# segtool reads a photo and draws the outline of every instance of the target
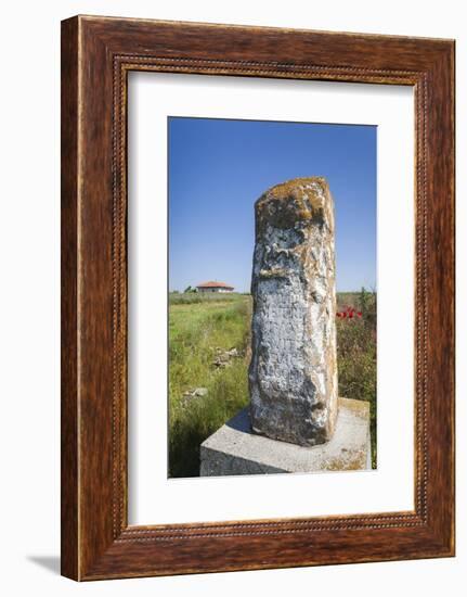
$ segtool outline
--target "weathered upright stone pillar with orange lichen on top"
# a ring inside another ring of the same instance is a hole
[[[334,203],[324,178],[297,178],[255,205],[251,427],[302,446],[337,417]]]

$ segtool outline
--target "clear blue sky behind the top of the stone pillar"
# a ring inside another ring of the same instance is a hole
[[[376,289],[376,127],[168,119],[169,289],[206,280],[249,292],[255,201],[325,176],[336,212],[337,290]]]

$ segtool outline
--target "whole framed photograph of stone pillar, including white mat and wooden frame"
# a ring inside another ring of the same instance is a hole
[[[62,573],[454,555],[454,41],[62,23]]]

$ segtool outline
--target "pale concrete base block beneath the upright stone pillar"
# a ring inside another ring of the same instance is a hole
[[[302,447],[251,432],[244,408],[200,446],[200,475],[271,474],[372,468],[369,403],[339,398],[333,439]]]

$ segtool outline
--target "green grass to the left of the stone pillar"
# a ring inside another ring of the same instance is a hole
[[[170,303],[170,477],[197,477],[202,442],[248,404],[250,297],[212,296]],[[218,348],[234,347],[245,356],[224,369],[212,365]],[[206,388],[207,396],[184,399],[194,388]]]

